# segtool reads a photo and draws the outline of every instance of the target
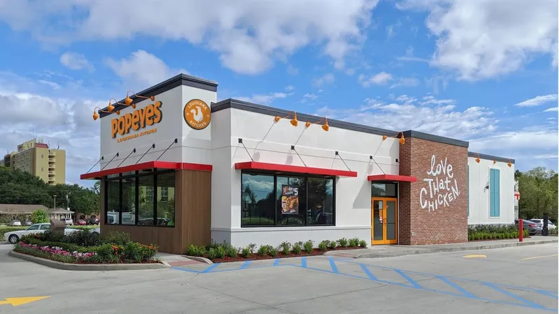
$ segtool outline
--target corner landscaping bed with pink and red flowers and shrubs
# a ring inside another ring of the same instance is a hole
[[[131,241],[129,234],[109,232],[106,235],[80,230],[56,234],[50,230],[23,236],[14,251],[68,264],[152,264],[157,246]]]

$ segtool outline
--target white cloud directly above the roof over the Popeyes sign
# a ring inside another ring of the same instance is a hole
[[[132,52],[125,59],[107,59],[106,63],[128,86],[134,88],[149,87],[179,73],[188,74],[184,69],[169,68],[163,60],[145,50]]]

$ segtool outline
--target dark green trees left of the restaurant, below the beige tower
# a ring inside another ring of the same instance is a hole
[[[40,204],[52,208],[55,195],[57,208],[70,207],[71,211],[85,215],[99,213],[99,184],[96,188],[78,184],[52,186],[28,172],[0,166],[0,204]]]

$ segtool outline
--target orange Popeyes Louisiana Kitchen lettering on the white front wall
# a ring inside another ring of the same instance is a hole
[[[131,130],[137,131],[147,126],[153,126],[154,124],[159,124],[161,119],[163,119],[163,112],[161,112],[161,107],[163,103],[161,101],[156,101],[146,107],[141,109],[136,109],[133,112],[123,114],[117,119],[112,119],[110,121],[110,135],[112,138],[119,135],[125,135],[130,133]],[[124,140],[130,140],[131,138],[147,135],[150,133],[157,132],[156,128],[146,130],[142,133],[136,133],[127,137],[119,138],[119,142]]]

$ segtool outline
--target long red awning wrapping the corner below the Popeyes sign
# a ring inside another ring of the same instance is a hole
[[[159,169],[174,169],[174,170],[200,170],[212,171],[212,165],[203,165],[199,163],[171,163],[168,161],[148,161],[147,163],[138,163],[136,165],[127,165],[124,167],[111,168],[97,172],[89,172],[80,175],[80,179],[94,179],[99,180],[101,177],[106,177],[111,174],[119,174],[124,172],[134,172],[139,170],[147,170],[152,168]]]

